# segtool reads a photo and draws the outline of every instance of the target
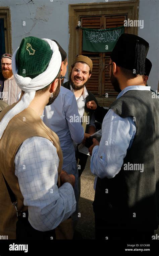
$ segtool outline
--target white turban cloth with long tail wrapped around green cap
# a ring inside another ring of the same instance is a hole
[[[20,89],[25,93],[22,96],[21,100],[16,104],[16,106],[10,109],[7,112],[7,114],[2,118],[0,122],[0,139],[9,121],[15,115],[19,114],[21,111],[27,108],[30,105],[31,101],[34,99],[36,91],[43,89],[47,85],[51,84],[60,70],[61,54],[59,52],[57,44],[50,39],[43,38],[42,40],[45,40],[50,45],[50,48],[53,51],[53,53],[50,62],[47,66],[47,69],[35,78],[32,79],[30,77],[23,77],[17,74],[18,70],[16,68],[15,57],[19,47],[18,49],[16,49],[12,56],[12,72],[14,75],[15,82],[20,87]]]

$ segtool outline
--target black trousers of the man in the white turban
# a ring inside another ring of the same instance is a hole
[[[24,215],[25,213],[25,215]],[[25,216],[25,217],[23,217]],[[21,212],[16,223],[17,240],[50,240],[56,239],[55,229],[49,231],[38,231],[28,221],[28,212]]]

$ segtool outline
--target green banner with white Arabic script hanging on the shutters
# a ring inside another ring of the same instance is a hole
[[[83,29],[82,50],[94,53],[112,52],[114,46],[124,33],[124,26],[108,29]]]

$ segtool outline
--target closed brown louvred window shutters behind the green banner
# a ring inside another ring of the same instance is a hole
[[[127,19],[127,14],[120,15],[94,15],[80,17],[81,27],[106,29],[123,26],[124,20]],[[125,27],[125,33],[127,28]],[[88,56],[93,62],[92,76],[90,77],[87,89],[97,97],[105,97],[108,93],[108,106],[116,99],[118,93],[115,92],[109,77],[109,72],[105,67],[109,65],[110,52],[108,53],[93,53],[82,50],[82,29],[79,29],[79,55]]]

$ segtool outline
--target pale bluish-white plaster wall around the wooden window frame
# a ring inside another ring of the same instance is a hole
[[[53,2],[51,0],[33,0],[34,4],[28,3],[29,1],[0,1],[0,6],[10,7],[13,52],[23,37],[37,36],[57,40],[68,54],[68,4],[105,3],[105,0],[53,0]],[[152,89],[157,90],[159,80],[158,0],[140,0],[139,19],[144,20],[144,28],[139,28],[138,34],[149,42],[148,58],[153,64],[148,84],[151,85]],[[22,26],[22,21],[26,22],[26,26]]]

